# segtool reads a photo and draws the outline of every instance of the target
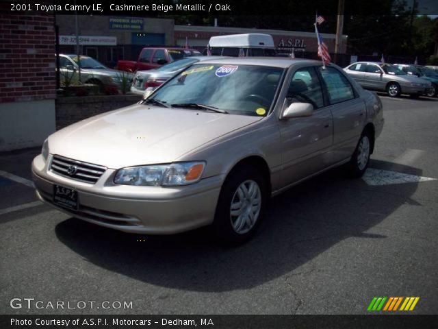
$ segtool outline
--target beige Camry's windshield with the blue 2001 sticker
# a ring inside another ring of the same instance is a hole
[[[283,69],[271,66],[195,64],[169,80],[149,99],[175,108],[194,108],[196,104],[231,114],[265,116],[282,75]]]

